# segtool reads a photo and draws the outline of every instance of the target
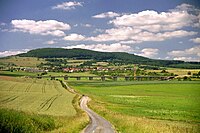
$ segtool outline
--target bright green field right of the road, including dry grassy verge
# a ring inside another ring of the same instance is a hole
[[[90,107],[120,132],[198,132],[200,82],[77,82]]]

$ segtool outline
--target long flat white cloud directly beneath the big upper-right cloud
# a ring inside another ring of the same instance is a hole
[[[141,43],[145,41],[164,41],[166,39],[178,38],[184,36],[192,36],[197,34],[197,32],[192,31],[170,31],[162,33],[152,33],[148,31],[141,31],[140,29],[133,29],[132,27],[120,27],[108,29],[105,33],[89,37],[88,40],[92,41],[129,41],[135,43]],[[125,42],[123,42],[125,43]]]

